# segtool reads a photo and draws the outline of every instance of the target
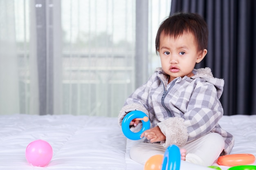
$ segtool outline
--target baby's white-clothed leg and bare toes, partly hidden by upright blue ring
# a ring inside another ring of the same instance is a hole
[[[130,157],[132,160],[145,164],[146,161],[154,155],[164,155],[166,148],[160,144],[150,144],[150,143],[138,143],[132,146],[130,149]],[[185,160],[186,158],[186,149],[180,149],[181,159]]]

